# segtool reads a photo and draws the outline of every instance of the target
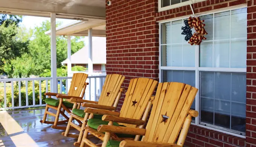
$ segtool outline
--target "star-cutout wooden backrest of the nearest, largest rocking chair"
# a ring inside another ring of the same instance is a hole
[[[143,141],[174,143],[197,91],[183,83],[159,83]]]

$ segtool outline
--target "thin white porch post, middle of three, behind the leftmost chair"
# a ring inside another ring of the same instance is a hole
[[[71,66],[71,36],[67,36],[67,77],[72,77]],[[67,91],[69,91],[71,79],[67,80]]]

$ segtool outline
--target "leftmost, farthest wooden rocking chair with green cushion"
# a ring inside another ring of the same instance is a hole
[[[67,95],[60,94],[60,93],[44,93],[44,95],[48,96],[44,101],[46,102],[46,107],[44,111],[44,117],[43,120],[40,120],[41,123],[47,123],[47,124],[53,124],[53,129],[62,129],[65,130],[66,127],[64,126],[57,126],[57,124],[64,124],[69,121],[69,117],[64,114],[65,111],[67,113],[70,113],[70,110],[73,108],[73,104],[67,101],[63,101],[63,99],[70,99],[70,98],[77,98],[82,99],[84,97],[85,88],[88,85],[88,83],[85,83],[88,75],[84,73],[75,73],[73,74],[72,81],[70,84],[70,89]],[[57,99],[51,98],[51,96],[56,96]],[[89,101],[88,101],[89,102]],[[94,102],[95,103],[95,102]],[[76,107],[79,109],[81,104],[79,103],[76,105]],[[48,111],[49,108],[57,110],[57,113],[54,114],[50,111]],[[62,110],[61,110],[62,109]],[[55,117],[55,121],[46,121],[47,114],[52,115]],[[59,114],[64,116],[66,120],[59,121]],[[79,124],[81,124],[81,121],[77,120]]]

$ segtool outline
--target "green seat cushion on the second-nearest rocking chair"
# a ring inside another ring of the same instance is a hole
[[[101,125],[101,124],[108,125],[108,121],[91,118],[91,119],[89,119],[87,121],[87,124],[88,124],[89,127],[97,130],[98,126]],[[118,123],[113,122],[113,126],[123,126],[123,125],[119,125]],[[125,127],[125,126],[123,126],[123,127]],[[116,135],[118,137],[120,137],[120,138],[134,138],[135,137],[135,135],[130,135],[130,134],[119,134],[119,133],[116,133]]]

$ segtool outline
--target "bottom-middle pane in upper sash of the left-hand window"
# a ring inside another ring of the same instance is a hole
[[[168,57],[170,56],[167,56],[167,58]],[[182,44],[172,45],[171,66],[182,67]]]

